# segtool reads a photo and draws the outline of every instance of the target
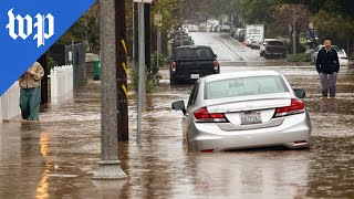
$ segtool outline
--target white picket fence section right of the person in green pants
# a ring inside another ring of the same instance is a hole
[[[54,66],[51,70],[51,102],[72,96],[73,77],[73,65]]]

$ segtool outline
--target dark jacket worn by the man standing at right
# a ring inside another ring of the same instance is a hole
[[[332,74],[340,71],[339,54],[334,49],[326,51],[324,48],[319,51],[316,59],[316,70],[319,73]]]

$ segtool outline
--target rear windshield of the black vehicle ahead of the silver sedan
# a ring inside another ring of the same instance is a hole
[[[176,59],[214,59],[214,52],[208,48],[176,49]]]

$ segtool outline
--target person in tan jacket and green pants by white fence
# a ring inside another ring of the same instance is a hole
[[[34,62],[20,77],[20,108],[22,119],[39,121],[41,105],[41,80],[44,75],[42,65]]]

